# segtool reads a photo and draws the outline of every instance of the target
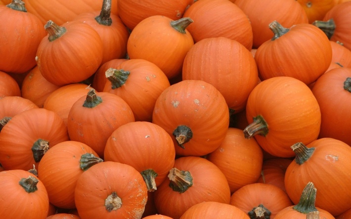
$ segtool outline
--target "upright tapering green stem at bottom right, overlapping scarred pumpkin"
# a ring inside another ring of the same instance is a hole
[[[302,191],[299,203],[295,205],[293,209],[303,214],[318,211],[314,205],[316,192],[317,189],[314,187],[314,184],[312,182],[307,183],[306,187]]]

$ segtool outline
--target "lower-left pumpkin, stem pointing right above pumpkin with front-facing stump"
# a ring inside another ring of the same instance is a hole
[[[38,166],[50,203],[62,209],[75,209],[74,190],[78,178],[92,165],[102,162],[86,144],[65,141],[48,150]]]

